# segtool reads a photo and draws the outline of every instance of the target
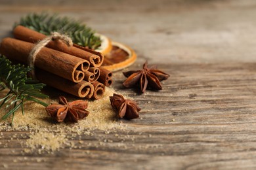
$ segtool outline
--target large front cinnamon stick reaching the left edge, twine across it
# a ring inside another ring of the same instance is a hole
[[[0,53],[12,61],[28,63],[28,56],[34,45],[30,42],[5,38],[0,44]],[[71,80],[72,82],[81,82],[85,76],[81,70],[86,69],[84,68],[84,64],[86,65],[86,63],[87,61],[85,59],[44,47],[37,54],[34,64],[35,67]]]

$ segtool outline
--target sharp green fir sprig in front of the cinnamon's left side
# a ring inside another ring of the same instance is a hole
[[[41,89],[45,84],[37,83],[32,78],[28,78],[27,73],[30,70],[30,67],[25,67],[21,64],[12,65],[9,59],[0,55],[0,92],[9,89],[5,97],[0,98],[0,107],[6,105],[6,108],[9,109],[9,112],[1,118],[2,120],[12,115],[13,123],[14,114],[20,108],[22,109],[22,114],[24,114],[23,106],[25,101],[34,101],[47,107],[47,103],[37,99],[48,97],[41,93]]]

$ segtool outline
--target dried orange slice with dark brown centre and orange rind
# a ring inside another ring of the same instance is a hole
[[[110,71],[117,71],[132,65],[137,54],[129,46],[112,41],[112,49],[104,55],[102,66]]]

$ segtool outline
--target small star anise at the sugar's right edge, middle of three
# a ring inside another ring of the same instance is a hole
[[[118,111],[118,118],[125,118],[127,120],[139,118],[139,111],[141,109],[135,101],[125,99],[123,95],[114,93],[113,96],[110,96],[110,103]]]

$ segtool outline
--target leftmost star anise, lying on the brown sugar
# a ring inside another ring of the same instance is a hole
[[[76,100],[68,102],[65,97],[58,97],[58,104],[51,104],[46,107],[50,116],[55,118],[58,122],[77,122],[88,116],[89,111],[85,110],[88,107],[88,102],[83,100]]]

